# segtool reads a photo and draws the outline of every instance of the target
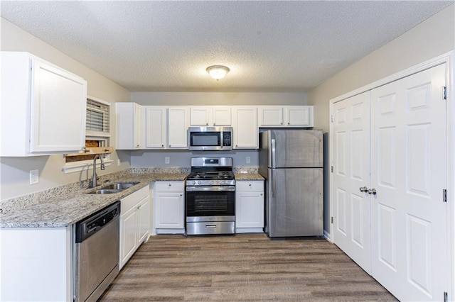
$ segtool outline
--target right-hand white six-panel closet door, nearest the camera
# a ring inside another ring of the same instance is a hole
[[[372,275],[401,301],[448,288],[445,79],[440,65],[371,91]]]

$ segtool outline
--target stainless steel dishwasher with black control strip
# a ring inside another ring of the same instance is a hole
[[[119,274],[120,201],[75,226],[75,301],[97,301]]]

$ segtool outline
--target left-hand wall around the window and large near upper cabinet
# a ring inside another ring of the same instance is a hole
[[[87,91],[90,96],[114,103],[116,101],[129,101],[130,94],[127,89],[103,77],[101,74],[80,64],[63,52],[26,33],[14,24],[1,18],[1,50],[26,51],[43,58],[48,62],[63,67],[70,72],[80,75],[87,80]],[[114,122],[114,121],[112,121]],[[115,123],[111,125],[112,142],[115,138]],[[18,138],[25,139],[25,138]],[[118,152],[122,165],[117,167],[117,153],[112,155],[114,163],[100,174],[112,173],[129,168],[129,152]],[[0,200],[43,191],[55,186],[85,180],[91,174],[87,171],[80,173],[64,174],[62,167],[65,161],[63,155],[39,157],[0,157]],[[40,183],[29,184],[29,171],[39,169]]]

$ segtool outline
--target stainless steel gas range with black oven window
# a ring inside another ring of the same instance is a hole
[[[186,234],[235,233],[232,157],[193,157],[186,178]]]

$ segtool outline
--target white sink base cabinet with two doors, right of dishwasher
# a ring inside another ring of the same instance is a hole
[[[119,269],[122,269],[139,245],[147,239],[149,228],[149,186],[144,186],[121,200]]]

